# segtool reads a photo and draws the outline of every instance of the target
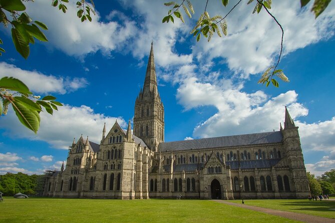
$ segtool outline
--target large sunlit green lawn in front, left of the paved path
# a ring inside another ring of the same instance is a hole
[[[0,222],[296,222],[211,200],[5,197]]]

